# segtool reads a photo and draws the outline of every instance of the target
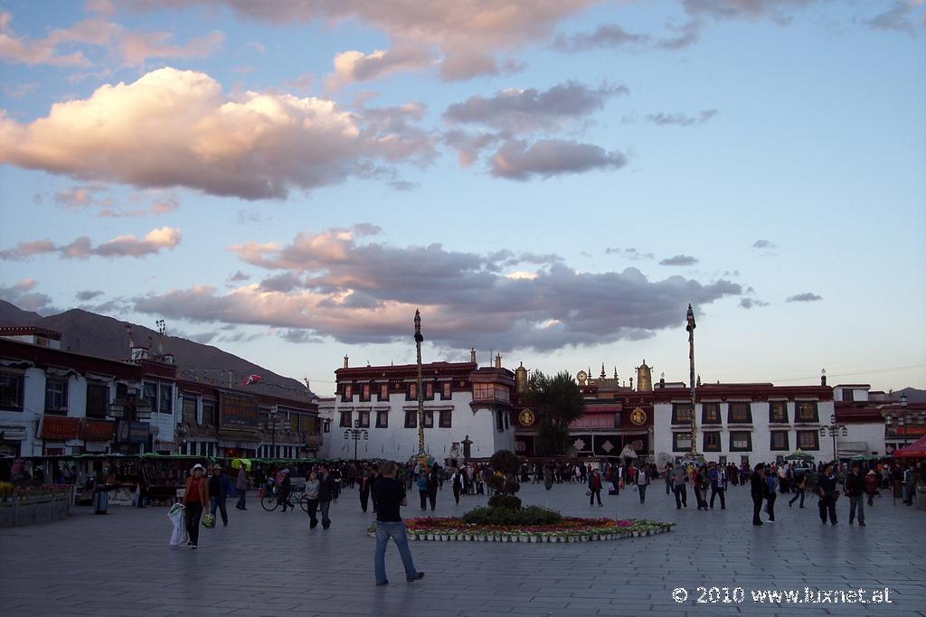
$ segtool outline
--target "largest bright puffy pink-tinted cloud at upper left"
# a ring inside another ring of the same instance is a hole
[[[53,105],[29,124],[0,114],[0,163],[261,199],[363,176],[378,161],[431,157],[426,134],[391,130],[414,113],[367,113],[369,123],[332,101],[289,94],[233,100],[204,73],[161,68]]]

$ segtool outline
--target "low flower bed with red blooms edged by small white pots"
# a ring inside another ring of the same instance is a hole
[[[561,523],[540,525],[466,524],[459,518],[406,519],[410,540],[457,540],[471,542],[589,542],[624,537],[655,536],[670,531],[674,523],[639,519],[564,517]],[[367,532],[376,537],[376,523]]]

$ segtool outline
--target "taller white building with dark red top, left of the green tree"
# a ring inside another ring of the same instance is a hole
[[[355,368],[346,359],[344,364],[335,371],[329,456],[353,459],[356,451],[359,459],[405,461],[417,454],[416,365]],[[500,356],[494,367],[480,368],[475,352],[469,363],[423,364],[422,377],[425,449],[435,459],[462,460],[467,449],[477,459],[514,450],[509,419],[514,374],[501,367]]]

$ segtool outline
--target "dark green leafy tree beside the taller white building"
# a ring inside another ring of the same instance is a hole
[[[555,376],[534,371],[524,399],[539,420],[537,454],[565,454],[569,448],[569,425],[585,411],[585,400],[572,376],[565,371]]]

